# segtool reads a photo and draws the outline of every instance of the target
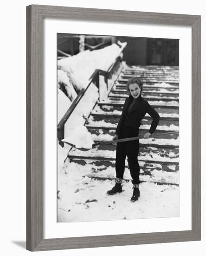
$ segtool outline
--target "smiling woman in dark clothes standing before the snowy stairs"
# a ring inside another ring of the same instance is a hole
[[[139,135],[141,120],[148,113],[152,117],[152,123],[144,139],[148,139],[154,133],[160,116],[152,108],[148,101],[142,98],[142,81],[137,77],[132,77],[127,82],[126,88],[129,92],[129,98],[126,99],[123,106],[121,118],[116,127],[116,134],[113,140],[135,137]],[[116,182],[115,186],[107,191],[108,195],[114,195],[122,192],[122,180],[125,169],[125,159],[127,156],[129,171],[133,183],[133,195],[131,201],[138,200],[140,196],[140,166],[138,163],[139,140],[118,142],[116,146]]]

